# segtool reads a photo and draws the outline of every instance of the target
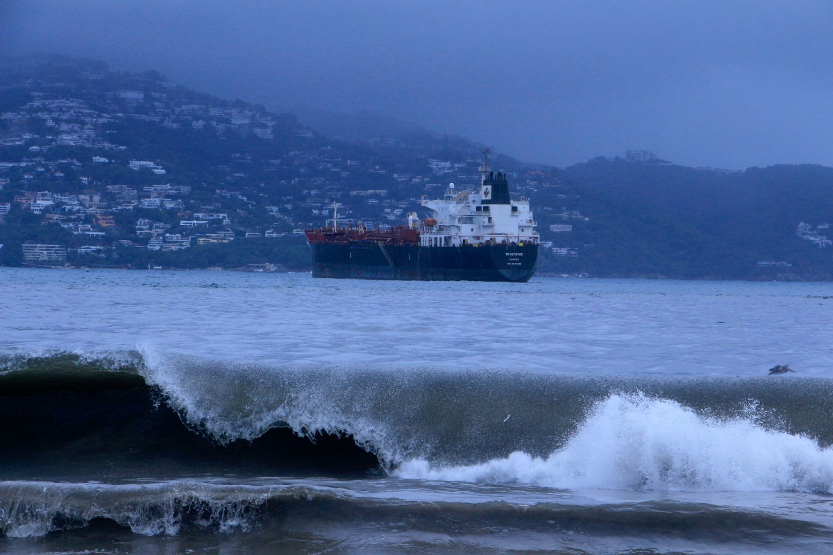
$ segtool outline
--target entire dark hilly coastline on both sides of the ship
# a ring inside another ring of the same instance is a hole
[[[409,211],[427,216],[421,196],[478,182],[474,141],[385,118],[316,117],[302,121],[340,138],[157,72],[55,56],[0,62],[0,265],[307,270],[299,231],[322,225],[327,206],[341,206],[345,223],[400,225]],[[596,159],[557,170],[500,154],[492,165],[514,197],[530,198],[542,273],[833,275],[822,239],[830,168]],[[61,260],[32,245],[56,246]]]

